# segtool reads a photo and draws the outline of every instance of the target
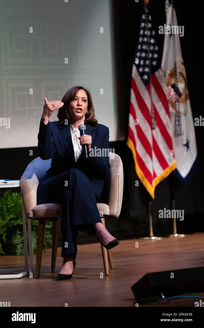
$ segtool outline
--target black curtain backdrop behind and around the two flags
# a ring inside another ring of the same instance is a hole
[[[184,0],[174,1],[179,25],[184,25],[184,36],[180,37],[182,54],[187,73],[188,90],[192,107],[193,117],[203,115],[203,59],[199,50],[202,44],[201,15],[197,3]],[[166,23],[165,0],[150,0],[149,10],[152,16],[153,28],[156,32],[160,56],[162,56],[164,35],[159,34],[159,26]],[[117,99],[121,124],[128,131],[128,112],[131,87],[131,70],[136,43],[138,39],[140,12],[142,3],[132,1],[113,0],[114,34],[115,34],[115,58],[116,58],[116,81]],[[126,135],[127,135],[126,131]],[[179,180],[170,174],[155,190],[155,200],[152,200],[152,212],[155,222],[160,222],[158,211],[166,207],[170,208],[170,200],[175,198],[176,208],[184,210],[185,221],[195,226],[196,218],[203,218],[204,192],[203,192],[203,133],[204,127],[195,127],[198,164],[191,181],[180,184]],[[125,177],[128,181],[129,190],[129,214],[138,223],[146,222],[147,202],[150,200],[148,193],[139,181],[139,187],[135,187],[135,180],[139,180],[135,173],[132,153],[127,147],[126,160],[128,162]],[[194,214],[194,215],[192,215]],[[193,220],[192,220],[193,218]],[[194,221],[194,222],[193,222]],[[196,222],[197,224],[197,222]],[[199,223],[198,223],[199,225]],[[183,225],[182,225],[183,226]],[[203,224],[202,224],[203,226]]]

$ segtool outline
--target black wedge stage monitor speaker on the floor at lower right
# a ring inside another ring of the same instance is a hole
[[[147,273],[132,287],[138,303],[204,292],[204,267]],[[162,293],[162,294],[161,294]]]

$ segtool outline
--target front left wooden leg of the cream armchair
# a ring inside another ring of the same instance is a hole
[[[37,240],[37,256],[36,256],[36,278],[40,277],[41,261],[42,261],[42,251],[44,242],[44,232],[45,232],[46,218],[38,219],[38,240]]]

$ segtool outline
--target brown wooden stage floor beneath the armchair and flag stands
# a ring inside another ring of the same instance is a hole
[[[139,248],[135,248],[135,242]],[[0,301],[17,307],[133,307],[131,286],[148,272],[204,266],[204,233],[160,240],[127,239],[112,249],[114,269],[104,273],[100,244],[77,246],[73,278],[57,281],[61,266],[58,248],[56,271],[51,272],[51,249],[42,256],[41,276],[30,279],[0,279]],[[35,264],[36,256],[34,256]],[[24,267],[24,256],[0,256],[0,268]],[[202,301],[204,293],[200,295]],[[194,307],[198,298],[161,300],[140,306]]]

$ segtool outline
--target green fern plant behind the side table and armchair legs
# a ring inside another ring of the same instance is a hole
[[[51,221],[46,221],[44,235],[44,250],[52,246],[52,235],[47,228],[52,227]],[[38,220],[31,220],[33,254],[37,251]],[[27,232],[28,242],[28,232]],[[21,193],[0,191],[0,254],[24,255],[23,218]]]

